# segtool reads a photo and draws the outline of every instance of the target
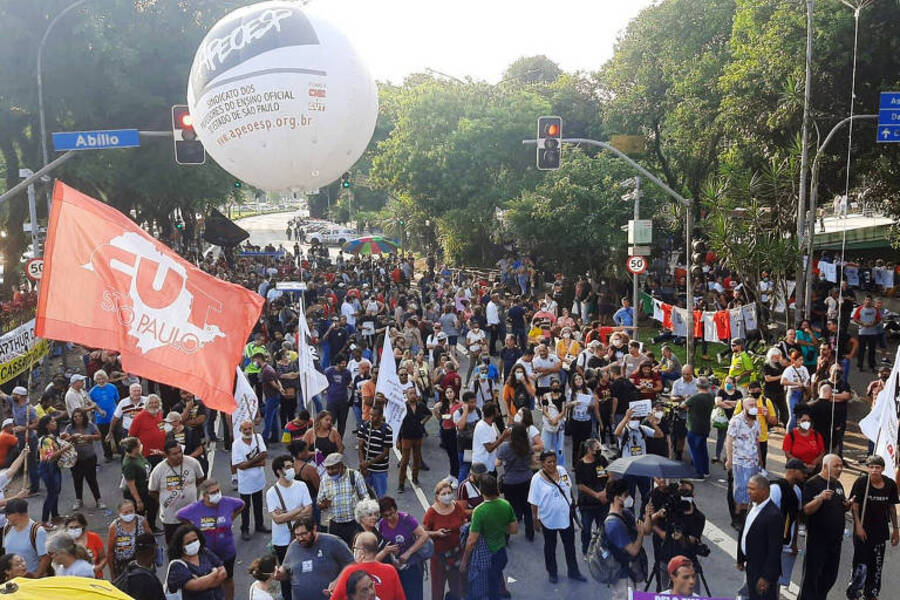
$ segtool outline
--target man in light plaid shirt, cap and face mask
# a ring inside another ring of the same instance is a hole
[[[369,497],[365,479],[358,471],[347,468],[340,452],[329,454],[322,464],[328,473],[316,498],[322,522],[328,524],[328,533],[352,546],[353,536],[359,531],[353,511],[357,502]]]

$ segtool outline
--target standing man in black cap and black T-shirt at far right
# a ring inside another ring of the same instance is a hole
[[[900,543],[897,528],[897,484],[884,477],[884,459],[878,455],[866,459],[869,473],[853,483],[853,578],[848,598],[874,600],[881,591],[884,549]],[[890,525],[890,530],[888,526]],[[860,595],[862,593],[862,595]],[[852,594],[852,595],[851,595]]]

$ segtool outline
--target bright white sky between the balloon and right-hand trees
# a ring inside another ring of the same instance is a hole
[[[375,79],[401,83],[426,67],[496,83],[520,56],[594,71],[653,0],[311,0],[337,25]]]

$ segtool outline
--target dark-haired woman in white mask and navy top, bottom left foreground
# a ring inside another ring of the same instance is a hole
[[[172,534],[165,591],[181,590],[182,600],[222,600],[222,582],[228,576],[222,561],[206,549],[203,534],[193,525],[182,525]]]

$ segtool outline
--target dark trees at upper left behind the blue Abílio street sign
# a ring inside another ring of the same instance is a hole
[[[7,166],[7,188],[18,182],[20,167],[37,170],[41,165],[34,79],[37,48],[51,18],[68,4],[34,0],[0,5],[0,19],[9,28],[0,37],[5,82],[0,93],[0,153]],[[237,5],[216,0],[112,0],[88,3],[67,14],[44,51],[48,132],[169,129],[170,106],[185,100],[200,40]],[[169,215],[176,208],[190,218],[195,211],[223,202],[233,180],[212,161],[203,167],[177,166],[171,142],[165,140],[131,150],[79,154],[54,176],[134,215],[139,223],[156,222],[163,230],[169,228]],[[0,240],[4,256],[18,257],[25,247],[20,225],[25,206],[22,194],[0,209],[0,227],[8,231]],[[38,206],[43,211],[45,203]],[[5,283],[9,286],[14,278]]]

